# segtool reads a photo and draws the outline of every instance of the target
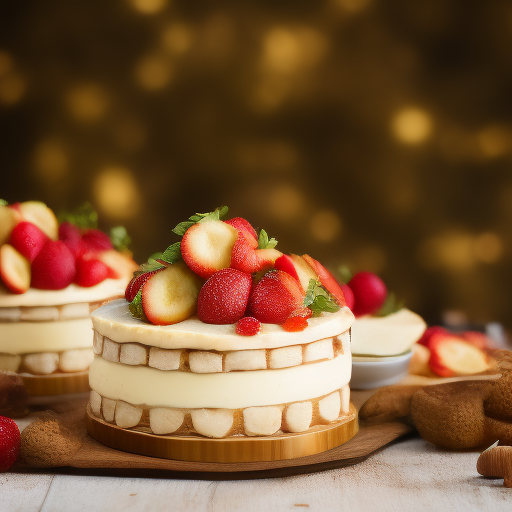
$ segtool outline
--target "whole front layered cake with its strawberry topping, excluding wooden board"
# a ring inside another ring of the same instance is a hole
[[[179,224],[181,242],[92,314],[90,413],[103,425],[247,439],[355,418],[354,316],[339,284],[225,210]]]

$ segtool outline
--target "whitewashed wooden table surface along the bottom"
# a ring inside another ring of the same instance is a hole
[[[477,458],[477,452],[445,452],[409,438],[356,466],[265,480],[0,473],[0,512],[512,512],[512,489],[480,477]]]

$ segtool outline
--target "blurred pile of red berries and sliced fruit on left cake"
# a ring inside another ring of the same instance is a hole
[[[0,276],[9,291],[60,290],[72,282],[90,287],[136,270],[131,255],[119,252],[129,242],[122,226],[113,228],[111,237],[99,231],[88,204],[62,219],[59,226],[39,201],[10,206],[0,201]]]

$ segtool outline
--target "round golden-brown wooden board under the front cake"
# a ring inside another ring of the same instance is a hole
[[[313,427],[307,432],[271,437],[210,439],[126,430],[96,418],[89,405],[85,423],[93,439],[116,450],[161,459],[221,463],[279,461],[314,455],[346,443],[359,430],[353,404],[349,415],[341,421]]]

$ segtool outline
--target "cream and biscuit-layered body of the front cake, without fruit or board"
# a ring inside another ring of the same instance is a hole
[[[349,412],[351,311],[302,332],[192,317],[169,326],[133,318],[125,300],[92,315],[91,408],[104,421],[154,434],[208,437],[304,432]]]

